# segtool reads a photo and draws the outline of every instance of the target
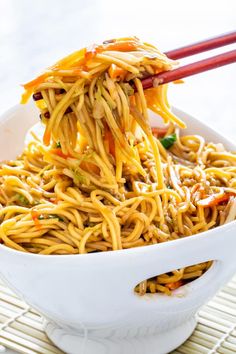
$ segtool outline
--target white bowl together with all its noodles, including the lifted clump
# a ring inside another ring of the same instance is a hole
[[[45,128],[17,158],[35,109],[1,121],[1,273],[68,353],[166,353],[235,270],[235,146],[142,87],[176,64],[136,37],[83,48],[24,85]]]

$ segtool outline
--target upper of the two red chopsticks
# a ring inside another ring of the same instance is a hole
[[[201,42],[193,43],[181,48],[170,50],[165,54],[170,59],[182,59],[191,55],[206,52],[211,49],[224,47],[236,42],[236,31],[221,34],[217,37],[209,38]]]

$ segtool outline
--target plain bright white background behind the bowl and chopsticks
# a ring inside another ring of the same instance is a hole
[[[19,101],[20,83],[82,46],[136,35],[165,51],[235,24],[236,0],[0,0],[0,113]],[[235,140],[235,82],[229,65],[172,85],[170,99]]]

